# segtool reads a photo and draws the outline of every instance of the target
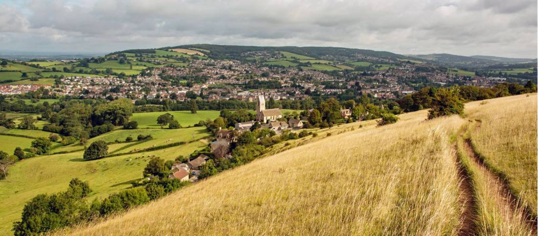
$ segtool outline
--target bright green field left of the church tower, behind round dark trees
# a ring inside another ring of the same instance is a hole
[[[134,113],[131,120],[138,122],[138,128],[160,128],[157,124],[157,117],[162,114],[170,113],[174,115],[174,119],[179,121],[182,127],[194,126],[201,120],[215,120],[220,111],[218,110],[199,110],[196,114],[192,114],[187,110],[180,110],[175,112],[147,112],[147,113]]]

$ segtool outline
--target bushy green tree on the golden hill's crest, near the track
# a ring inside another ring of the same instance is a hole
[[[435,117],[463,114],[463,102],[459,95],[458,87],[440,88],[431,100],[431,108],[428,111],[428,119]]]

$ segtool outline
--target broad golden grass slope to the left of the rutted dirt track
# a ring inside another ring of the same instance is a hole
[[[527,106],[536,95],[494,99],[489,106],[505,99],[519,99],[508,106]],[[481,104],[466,107],[476,111],[485,107]],[[461,228],[475,230],[479,226],[464,225],[469,220],[461,213],[469,211],[462,203],[454,142],[469,120],[424,121],[424,110],[400,117],[396,124],[355,129],[258,159],[117,217],[59,233],[456,235]],[[536,137],[528,142],[536,149]],[[536,164],[523,168],[535,170]],[[504,224],[497,232],[526,227],[513,219]]]

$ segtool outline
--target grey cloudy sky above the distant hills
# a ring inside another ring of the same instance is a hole
[[[0,49],[211,43],[536,58],[536,0],[0,0]]]

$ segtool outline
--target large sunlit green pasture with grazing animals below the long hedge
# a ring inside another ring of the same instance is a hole
[[[196,141],[167,149],[94,161],[84,161],[83,152],[80,151],[36,156],[18,162],[10,169],[10,182],[0,181],[0,204],[9,205],[0,207],[0,234],[11,234],[12,223],[20,219],[20,213],[27,200],[40,193],[64,191],[72,178],[77,177],[89,182],[93,190],[89,196],[90,200],[103,198],[110,193],[130,188],[132,181],[142,177],[142,171],[151,159],[150,156],[170,160],[179,155],[189,155],[206,145],[204,142]]]

